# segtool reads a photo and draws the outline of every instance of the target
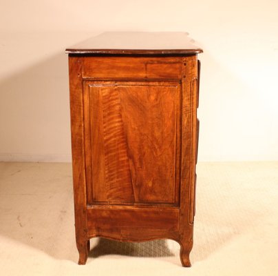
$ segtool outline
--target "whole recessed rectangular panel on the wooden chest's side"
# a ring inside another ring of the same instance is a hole
[[[92,171],[88,177],[92,184],[87,181],[87,190],[93,190],[89,203],[178,204],[180,83],[90,81],[86,85],[90,103],[85,109],[92,116],[85,117],[91,120],[85,128],[94,132],[93,161],[87,165]]]

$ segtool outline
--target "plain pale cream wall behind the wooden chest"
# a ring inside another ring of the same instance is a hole
[[[199,161],[278,159],[278,1],[0,1],[0,160],[70,161],[64,49],[186,31],[204,49]]]

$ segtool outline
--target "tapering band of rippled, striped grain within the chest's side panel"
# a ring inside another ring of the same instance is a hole
[[[120,97],[115,87],[103,91],[103,140],[107,198],[111,201],[132,202],[134,195],[127,157],[127,141],[122,124]]]

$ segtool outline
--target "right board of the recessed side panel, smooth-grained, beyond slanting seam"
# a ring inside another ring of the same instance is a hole
[[[175,203],[178,83],[118,86],[136,202]]]

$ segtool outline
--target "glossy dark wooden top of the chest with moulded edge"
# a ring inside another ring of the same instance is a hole
[[[202,49],[186,32],[103,32],[67,48],[74,55],[193,55]]]

